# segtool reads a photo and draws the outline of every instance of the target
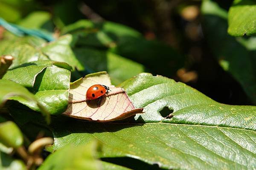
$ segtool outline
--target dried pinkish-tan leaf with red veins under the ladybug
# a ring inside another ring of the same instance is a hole
[[[106,85],[110,92],[99,100],[86,100],[87,89],[95,84]],[[111,85],[108,74],[103,71],[89,74],[70,84],[69,104],[63,113],[78,119],[109,122],[125,119],[136,113],[143,113],[143,108],[135,108],[122,88]]]

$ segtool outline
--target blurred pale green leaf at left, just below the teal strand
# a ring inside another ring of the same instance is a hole
[[[70,48],[71,42],[71,35],[65,35],[55,41],[46,43],[43,39],[37,37],[15,37],[12,34],[7,34],[0,41],[0,55],[12,55],[15,58],[10,68],[15,68],[27,62],[51,59],[66,62],[73,69],[81,70],[83,66]]]

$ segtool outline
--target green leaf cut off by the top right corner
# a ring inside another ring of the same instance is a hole
[[[256,33],[256,3],[254,0],[234,0],[228,12],[228,33],[247,36]]]

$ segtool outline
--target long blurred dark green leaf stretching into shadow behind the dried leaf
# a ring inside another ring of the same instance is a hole
[[[74,48],[109,48],[115,54],[144,63],[157,74],[170,76],[183,66],[183,56],[168,45],[145,40],[138,31],[117,23],[80,20],[64,27],[62,33],[73,35]]]

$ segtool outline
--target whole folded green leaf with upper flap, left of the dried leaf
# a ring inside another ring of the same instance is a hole
[[[58,68],[55,65],[63,68]],[[30,62],[7,71],[3,79],[9,79],[28,87],[49,113],[60,114],[67,108],[70,88],[70,71],[64,68],[70,69],[70,66],[63,62],[47,60]],[[40,111],[35,102],[18,96],[12,99],[18,100],[35,111]]]

